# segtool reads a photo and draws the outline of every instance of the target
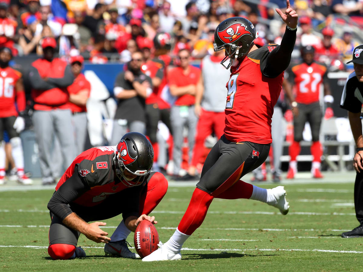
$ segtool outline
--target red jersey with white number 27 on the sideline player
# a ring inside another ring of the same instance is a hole
[[[316,62],[307,65],[301,63],[291,67],[289,77],[294,82],[297,103],[311,104],[319,101],[319,90],[324,78],[327,78],[327,69]]]

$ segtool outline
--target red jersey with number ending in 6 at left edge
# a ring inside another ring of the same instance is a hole
[[[0,68],[0,118],[17,116],[15,84],[21,73],[11,67]]]

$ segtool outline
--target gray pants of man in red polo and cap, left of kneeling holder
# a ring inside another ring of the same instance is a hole
[[[76,156],[85,151],[87,139],[87,112],[79,112],[72,115],[74,143],[76,144]]]

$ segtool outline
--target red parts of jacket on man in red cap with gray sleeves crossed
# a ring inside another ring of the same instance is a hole
[[[67,63],[60,58],[54,58],[52,62],[40,58],[34,61],[32,66],[38,70],[41,78],[62,78],[64,77],[64,70]],[[31,97],[35,102],[34,110],[49,111],[53,107],[60,109],[69,108],[67,103],[69,100],[67,88],[57,87],[45,91],[32,89]]]

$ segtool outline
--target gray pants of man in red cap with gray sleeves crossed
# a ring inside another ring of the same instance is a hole
[[[50,182],[56,177],[53,169],[52,144],[54,134],[61,145],[64,169],[72,164],[76,154],[74,150],[73,128],[70,110],[34,111],[33,125],[39,148],[39,164],[43,182]]]

